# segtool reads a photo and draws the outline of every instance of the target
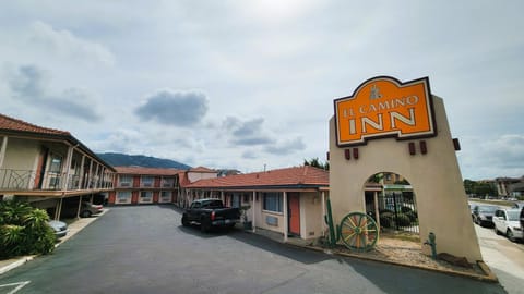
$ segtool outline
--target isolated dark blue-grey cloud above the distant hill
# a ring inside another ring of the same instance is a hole
[[[147,97],[134,113],[142,121],[178,126],[198,124],[207,113],[207,98],[200,91],[159,90]]]

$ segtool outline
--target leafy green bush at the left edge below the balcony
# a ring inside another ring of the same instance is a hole
[[[56,236],[45,210],[26,203],[0,201],[0,258],[49,254]]]

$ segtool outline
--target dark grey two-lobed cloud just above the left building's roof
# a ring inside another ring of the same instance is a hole
[[[11,93],[26,106],[43,108],[51,113],[95,122],[100,115],[94,109],[93,95],[81,88],[51,93],[47,85],[50,75],[34,64],[21,65],[8,73]]]

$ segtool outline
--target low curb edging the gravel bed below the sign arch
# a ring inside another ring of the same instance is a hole
[[[330,255],[338,255],[338,256],[344,256],[344,257],[353,257],[353,258],[358,258],[358,259],[365,259],[365,260],[371,260],[371,261],[377,261],[377,262],[382,262],[382,264],[390,264],[394,266],[401,266],[401,267],[406,267],[406,268],[414,268],[414,269],[421,269],[421,270],[427,270],[427,271],[434,271],[434,272],[440,272],[449,275],[456,275],[456,277],[464,277],[464,278],[469,278],[473,280],[477,281],[483,281],[483,282],[489,282],[489,283],[498,283],[499,279],[495,273],[491,271],[491,269],[486,265],[486,262],[478,260],[477,265],[480,268],[480,270],[485,273],[485,275],[481,274],[475,274],[471,272],[462,272],[462,271],[456,271],[456,270],[444,270],[444,269],[437,269],[437,268],[430,268],[430,267],[422,267],[422,266],[417,266],[417,265],[412,265],[412,264],[403,264],[403,262],[397,262],[393,260],[384,260],[384,259],[377,259],[373,257],[367,257],[362,255],[356,255],[356,254],[348,254],[348,253],[341,253],[337,250],[332,250],[332,249],[325,249],[322,247],[317,247],[317,246],[305,246],[305,245],[298,245],[298,244],[293,244],[293,243],[284,243],[286,245],[290,245],[294,247],[299,247],[299,248],[305,248],[305,249],[310,249],[314,252],[321,252]]]

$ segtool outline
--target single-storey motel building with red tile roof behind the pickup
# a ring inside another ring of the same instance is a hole
[[[254,172],[200,180],[184,185],[186,204],[199,198],[219,198],[246,210],[253,231],[258,228],[300,238],[324,233],[329,172],[313,167]]]

